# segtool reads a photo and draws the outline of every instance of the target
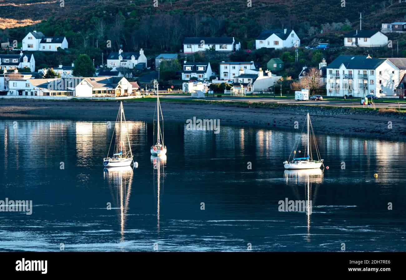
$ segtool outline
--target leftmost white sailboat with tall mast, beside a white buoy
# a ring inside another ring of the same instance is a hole
[[[124,121],[124,123],[123,123]],[[130,138],[128,137],[128,127],[125,122],[123,102],[120,102],[119,113],[117,114],[116,123],[120,122],[120,131],[116,131],[114,126],[113,135],[110,141],[110,147],[108,148],[107,157],[103,159],[103,165],[105,167],[120,167],[120,166],[129,166],[133,162],[133,155],[131,151]],[[125,132],[123,131],[123,124],[125,125]],[[123,134],[125,134],[123,136]],[[113,142],[114,135],[116,136],[114,147],[113,147],[113,156],[109,157],[111,144]],[[128,149],[127,149],[128,148]]]

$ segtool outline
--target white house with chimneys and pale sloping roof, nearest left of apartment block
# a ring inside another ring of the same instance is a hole
[[[234,77],[233,87],[244,87],[246,92],[268,90],[274,86],[281,76],[272,75],[271,71],[266,70],[265,75],[261,68],[256,74],[245,73],[242,67],[240,68],[239,75]]]

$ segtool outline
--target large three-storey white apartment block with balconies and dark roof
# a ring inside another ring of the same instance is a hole
[[[393,97],[400,81],[399,68],[387,58],[341,55],[326,71],[328,96]]]

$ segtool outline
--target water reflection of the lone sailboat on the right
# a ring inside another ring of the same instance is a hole
[[[323,183],[323,170],[316,169],[301,169],[301,170],[285,170],[283,173],[286,179],[286,185],[290,185],[296,197],[296,200],[305,200],[306,203],[306,215],[307,215],[307,242],[310,242],[310,215],[315,206],[315,200],[317,198],[317,190]],[[315,185],[315,189],[312,195],[312,186]],[[301,187],[304,186],[304,195],[301,192]],[[304,198],[304,199],[303,199]],[[309,203],[311,201],[311,204]]]

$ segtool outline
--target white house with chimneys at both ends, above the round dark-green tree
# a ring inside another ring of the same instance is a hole
[[[136,52],[112,52],[107,58],[107,67],[123,67],[130,69],[145,69],[147,68],[147,57],[144,50],[140,49],[139,54]]]

